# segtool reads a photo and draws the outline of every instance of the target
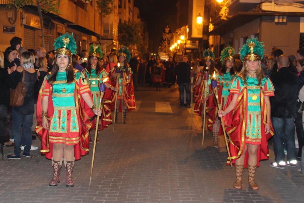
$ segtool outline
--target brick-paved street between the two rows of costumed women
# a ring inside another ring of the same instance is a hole
[[[247,170],[243,189],[233,189],[235,173],[225,165],[223,137],[215,149],[208,132],[202,147],[201,118],[193,116],[190,130],[190,111],[178,107],[177,87],[139,89],[140,106],[128,114],[129,124],[115,125],[114,134],[112,126],[100,132],[91,188],[92,152],[76,161],[74,187],[65,187],[64,178],[50,187],[51,162],[36,150],[31,159],[0,161],[0,202],[304,202],[304,176],[296,168],[270,167],[272,150],[270,160],[257,169],[260,189],[248,187]],[[156,101],[170,102],[172,113],[161,113],[159,107],[156,113]],[[39,139],[33,145],[39,146]],[[12,148],[6,147],[5,155]]]

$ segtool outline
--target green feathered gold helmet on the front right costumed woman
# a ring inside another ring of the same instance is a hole
[[[261,61],[264,58],[264,52],[263,42],[251,38],[246,41],[239,54],[242,61]]]

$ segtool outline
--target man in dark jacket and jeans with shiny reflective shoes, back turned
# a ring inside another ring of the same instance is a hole
[[[297,163],[294,118],[298,110],[299,78],[290,72],[288,65],[288,56],[281,55],[278,57],[278,72],[270,76],[275,89],[275,96],[270,98],[275,162],[270,166],[279,169],[284,169],[285,165],[294,168]],[[287,164],[283,143],[287,148]]]

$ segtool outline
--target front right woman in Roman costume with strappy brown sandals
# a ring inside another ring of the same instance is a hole
[[[229,135],[229,151],[236,170],[233,187],[237,189],[242,188],[244,168],[248,168],[251,189],[259,189],[254,175],[260,161],[268,159],[267,141],[273,135],[269,97],[274,96],[274,88],[261,68],[263,46],[257,39],[248,39],[242,47],[243,68],[231,83],[224,110],[219,111]]]

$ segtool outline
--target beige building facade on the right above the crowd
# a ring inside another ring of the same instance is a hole
[[[246,40],[253,37],[264,42],[268,55],[273,47],[287,55],[296,54],[304,47],[304,8],[296,1],[232,0],[223,3],[227,5],[227,19],[223,19],[223,12],[220,12],[211,18],[209,26],[209,45],[216,56],[228,45],[237,53]],[[219,7],[214,5],[218,4],[215,1],[212,4],[211,8]]]

